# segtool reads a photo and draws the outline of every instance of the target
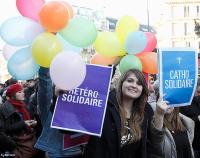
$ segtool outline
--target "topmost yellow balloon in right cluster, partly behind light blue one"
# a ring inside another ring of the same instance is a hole
[[[116,24],[116,34],[122,43],[125,42],[130,32],[137,31],[138,29],[139,23],[132,16],[123,16]]]

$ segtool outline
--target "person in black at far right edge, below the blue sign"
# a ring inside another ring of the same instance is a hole
[[[200,82],[190,106],[180,108],[180,112],[195,122],[193,148],[196,158],[200,158]]]

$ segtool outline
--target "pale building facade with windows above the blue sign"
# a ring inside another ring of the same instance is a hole
[[[163,27],[168,35],[160,36],[159,47],[192,47],[199,52],[200,39],[194,29],[200,19],[200,0],[165,0],[165,4],[167,20]]]

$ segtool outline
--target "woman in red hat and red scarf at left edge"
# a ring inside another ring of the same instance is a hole
[[[37,155],[34,148],[37,121],[31,120],[26,110],[23,87],[18,83],[10,85],[6,96],[7,101],[0,106],[0,131],[4,139],[0,146],[7,142],[10,147],[4,148],[4,152],[12,152],[19,158],[33,158]]]

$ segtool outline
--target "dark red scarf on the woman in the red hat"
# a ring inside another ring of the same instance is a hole
[[[12,104],[17,111],[22,113],[24,120],[30,120],[30,115],[29,115],[28,111],[26,110],[26,104],[24,104],[23,101],[15,100],[15,99],[9,99],[8,102],[10,104]]]

